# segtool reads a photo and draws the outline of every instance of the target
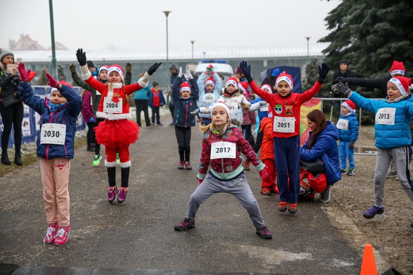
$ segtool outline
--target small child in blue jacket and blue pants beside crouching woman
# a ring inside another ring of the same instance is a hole
[[[359,136],[359,122],[356,116],[356,105],[351,100],[341,104],[341,116],[336,125],[340,138],[338,139],[338,153],[340,155],[340,172],[350,176],[354,171],[354,143]],[[349,160],[349,171],[347,171],[347,160]]]

